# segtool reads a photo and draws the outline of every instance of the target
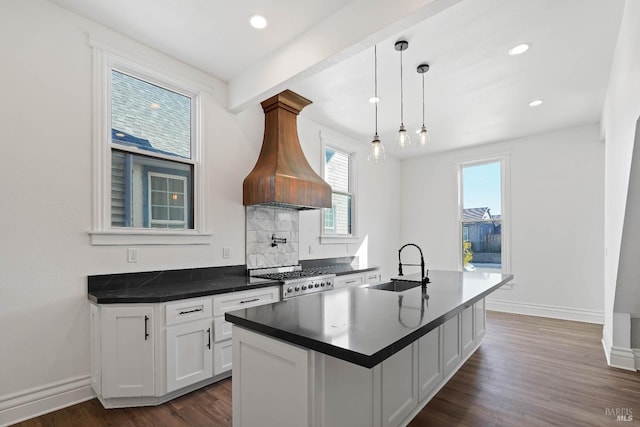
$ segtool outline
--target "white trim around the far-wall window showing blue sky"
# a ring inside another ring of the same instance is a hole
[[[462,244],[462,209],[463,209],[463,183],[462,170],[468,166],[478,166],[487,163],[500,162],[500,210],[501,210],[501,234],[502,234],[502,251],[501,251],[501,272],[503,274],[511,274],[511,156],[509,153],[495,154],[483,156],[473,160],[464,160],[456,162],[455,176],[458,188],[457,198],[457,221],[456,233],[457,242]],[[459,246],[459,245],[458,245]],[[461,248],[461,246],[460,246]],[[462,250],[457,251],[457,268],[463,271],[463,254]]]

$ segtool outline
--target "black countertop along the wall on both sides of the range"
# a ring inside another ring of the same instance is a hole
[[[302,265],[303,268],[314,268],[336,275],[360,273],[377,268],[336,264],[335,261],[336,259],[312,260],[306,266],[305,262]],[[277,281],[248,277],[246,266],[238,265],[89,276],[88,296],[89,301],[96,304],[144,304],[277,285]]]

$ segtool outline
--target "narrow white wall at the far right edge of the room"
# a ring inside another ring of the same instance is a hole
[[[624,260],[620,252],[627,191],[631,172],[631,158],[634,149],[636,122],[640,116],[640,4],[625,2],[624,15],[618,34],[618,43],[611,67],[611,77],[607,91],[607,101],[603,114],[603,131],[606,139],[605,163],[605,327],[603,342],[607,358],[612,346],[630,345],[628,334],[618,333],[614,320],[614,303],[618,282],[619,264]],[[638,167],[637,165],[635,167]],[[637,208],[637,207],[636,207]],[[636,221],[637,223],[637,221]],[[637,227],[638,225],[635,224]],[[637,259],[627,262],[637,265]],[[628,319],[629,316],[623,316]],[[625,320],[623,323],[628,323]],[[628,324],[619,325],[622,330]],[[620,337],[620,339],[616,339]],[[618,342],[621,341],[621,342]]]

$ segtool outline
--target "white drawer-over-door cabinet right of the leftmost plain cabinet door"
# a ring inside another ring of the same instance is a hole
[[[211,298],[167,304],[167,392],[213,376]]]

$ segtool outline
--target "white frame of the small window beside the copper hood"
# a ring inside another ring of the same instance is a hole
[[[333,191],[331,189],[331,196],[333,198],[333,194],[345,194],[351,196],[351,233],[350,234],[325,234],[325,216],[326,216],[326,208],[321,209],[320,214],[320,243],[321,244],[340,244],[340,243],[353,243],[358,239],[358,227],[357,227],[357,206],[358,206],[358,189],[357,189],[357,152],[352,150],[347,150],[342,147],[327,144],[323,142],[321,144],[321,171],[322,171],[322,179],[326,181],[325,175],[325,162],[326,162],[326,149],[334,150],[349,157],[349,192],[345,193],[342,191]],[[335,214],[334,214],[334,224],[335,224]]]

